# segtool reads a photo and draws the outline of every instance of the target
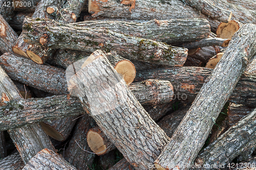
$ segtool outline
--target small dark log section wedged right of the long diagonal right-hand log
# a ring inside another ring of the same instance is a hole
[[[236,124],[241,118],[249,114],[252,110],[252,107],[230,103],[227,112],[229,125],[232,126]]]

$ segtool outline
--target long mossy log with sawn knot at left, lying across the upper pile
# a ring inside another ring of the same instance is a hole
[[[25,18],[22,34],[24,41],[45,47],[69,48],[90,54],[100,48],[107,52],[115,50],[127,59],[169,66],[183,65],[187,56],[186,48],[119,34],[106,29],[64,25],[51,19]]]

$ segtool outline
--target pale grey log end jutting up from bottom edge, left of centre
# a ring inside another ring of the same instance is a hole
[[[65,159],[55,152],[44,149],[38,152],[29,162],[24,166],[23,170],[37,170],[37,169],[59,169],[59,170],[76,170]]]

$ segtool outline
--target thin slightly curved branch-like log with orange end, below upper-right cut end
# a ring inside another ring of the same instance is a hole
[[[179,45],[179,46],[187,48],[187,49],[199,48],[199,47],[202,47],[202,46],[212,46],[212,45],[227,47],[229,41],[230,41],[230,39],[206,38],[206,39],[202,39],[202,40],[199,40],[199,41],[183,43],[182,45]]]

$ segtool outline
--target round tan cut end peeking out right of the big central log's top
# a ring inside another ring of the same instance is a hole
[[[115,66],[116,71],[122,76],[127,85],[130,85],[136,76],[136,69],[131,61],[122,60]]]

